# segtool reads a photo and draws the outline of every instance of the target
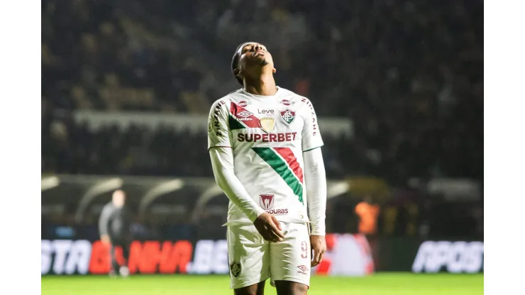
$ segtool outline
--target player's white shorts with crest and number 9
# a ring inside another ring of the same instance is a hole
[[[306,223],[282,223],[284,240],[264,240],[253,224],[228,226],[228,263],[231,289],[270,278],[310,285],[310,235]]]

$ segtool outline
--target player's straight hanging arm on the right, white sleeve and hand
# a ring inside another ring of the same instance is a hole
[[[321,146],[323,140],[319,132],[319,123],[314,107],[306,100],[304,128],[302,131],[302,150],[304,160],[304,180],[306,184],[306,201],[308,216],[311,222],[310,245],[312,253],[311,266],[319,265],[326,251],[326,172],[324,169]]]

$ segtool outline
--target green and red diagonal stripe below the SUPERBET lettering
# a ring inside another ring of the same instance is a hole
[[[279,174],[303,203],[303,170],[292,150],[289,147],[252,147],[252,150]]]

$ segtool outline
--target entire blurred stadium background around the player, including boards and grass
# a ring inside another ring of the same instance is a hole
[[[324,135],[310,293],[482,294],[482,17],[480,0],[43,1],[42,293],[232,294],[206,116],[255,40]],[[106,276],[96,226],[118,188],[128,279]]]

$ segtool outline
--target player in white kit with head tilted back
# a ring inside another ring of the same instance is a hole
[[[326,251],[326,177],[311,102],[277,87],[264,45],[241,44],[231,62],[243,88],[211,107],[208,147],[230,203],[227,240],[234,294],[306,294]]]

